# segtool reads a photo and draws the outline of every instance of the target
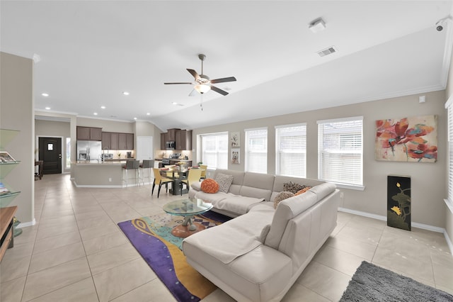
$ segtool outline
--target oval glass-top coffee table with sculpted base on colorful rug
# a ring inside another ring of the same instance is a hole
[[[207,203],[198,198],[185,198],[166,203],[164,211],[170,215],[183,216],[184,221],[171,230],[176,237],[188,237],[205,230],[205,225],[193,222],[193,216],[210,211],[212,203]]]

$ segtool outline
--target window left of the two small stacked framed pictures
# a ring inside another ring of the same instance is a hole
[[[202,162],[210,169],[228,169],[228,133],[201,135]]]

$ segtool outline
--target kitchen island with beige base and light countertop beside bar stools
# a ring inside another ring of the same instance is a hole
[[[78,187],[93,188],[121,188],[122,166],[126,160],[122,161],[77,161],[71,163],[71,174],[74,184]],[[132,178],[133,172],[129,177]],[[128,181],[134,184],[133,181]]]

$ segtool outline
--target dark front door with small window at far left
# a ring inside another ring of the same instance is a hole
[[[39,138],[42,174],[62,173],[62,138]]]

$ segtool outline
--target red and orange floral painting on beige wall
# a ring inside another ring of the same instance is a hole
[[[437,116],[376,121],[376,160],[437,162]]]

